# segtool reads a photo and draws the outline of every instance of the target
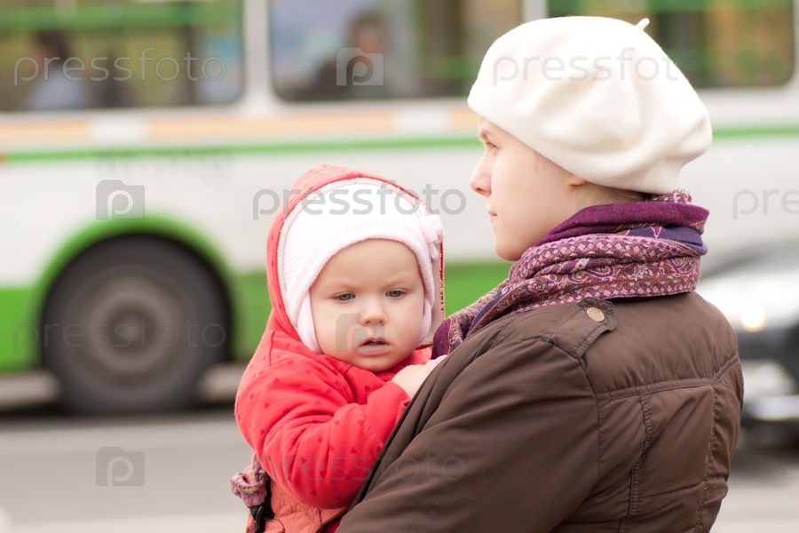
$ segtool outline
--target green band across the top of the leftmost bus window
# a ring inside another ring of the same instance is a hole
[[[241,24],[241,4],[108,4],[0,9],[0,31],[174,28]]]

